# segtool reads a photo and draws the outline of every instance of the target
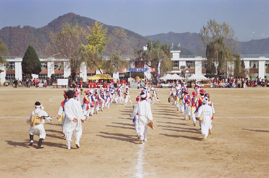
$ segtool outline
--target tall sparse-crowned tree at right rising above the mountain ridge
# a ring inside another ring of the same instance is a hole
[[[234,53],[238,45],[234,30],[226,22],[219,24],[210,19],[200,30],[202,46],[206,47],[207,72],[217,73],[227,68],[227,63],[234,64],[237,55]],[[240,58],[240,56],[239,56]]]

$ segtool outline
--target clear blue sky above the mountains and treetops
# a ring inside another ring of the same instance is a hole
[[[240,41],[269,37],[269,0],[0,0],[0,12],[0,29],[38,28],[73,12],[141,35],[199,33],[211,18],[229,23]]]

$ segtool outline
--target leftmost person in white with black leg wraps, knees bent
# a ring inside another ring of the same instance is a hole
[[[48,116],[48,113],[46,111],[44,111],[44,107],[42,106],[42,104],[40,102],[36,101],[35,108],[36,109],[34,111],[32,111],[30,116],[27,118],[27,120],[26,120],[27,124],[31,124],[30,123],[30,118],[31,118],[31,116],[33,116],[36,113],[38,113],[38,115],[40,117],[44,116],[44,118],[47,121],[51,121],[51,117]],[[42,146],[42,143],[43,143],[44,139],[46,138],[46,131],[45,131],[45,128],[44,128],[44,123],[45,123],[45,121],[43,119],[40,124],[35,125],[34,127],[30,126],[30,129],[29,129],[29,135],[30,135],[29,146],[32,146],[34,144],[34,135],[39,134],[39,140],[38,140],[38,143],[37,143],[37,148],[44,148]]]

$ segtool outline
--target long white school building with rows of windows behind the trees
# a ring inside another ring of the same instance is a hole
[[[131,56],[126,56],[126,59],[130,59],[130,57]],[[0,67],[4,71],[0,73],[2,83],[4,81],[9,82],[10,78],[19,78],[21,80],[22,77],[26,76],[21,69],[22,56],[6,56],[5,58],[8,61],[8,64]],[[50,77],[53,73],[56,76],[55,78],[68,78],[70,76],[70,68],[64,67],[67,66],[64,59],[55,60],[53,58],[48,58],[47,56],[38,56],[38,58],[42,65],[42,71],[38,75],[32,74],[33,78],[46,78]],[[204,56],[180,55],[180,51],[171,51],[171,60],[173,62],[171,73],[181,75],[180,67],[186,66],[186,77],[189,77],[192,74],[206,74],[206,58]],[[249,76],[250,78],[264,78],[265,76],[269,78],[269,55],[241,55],[241,60],[244,61],[245,67],[249,69],[251,73],[251,76]],[[133,67],[143,68],[141,65]],[[152,71],[153,69],[149,68],[147,72],[144,72],[145,76],[150,78],[152,76]],[[83,78],[83,81],[87,81],[87,77],[98,73],[100,73],[100,71],[92,70],[86,65],[81,65],[76,71],[76,75]],[[102,73],[106,73],[106,71],[103,70]],[[124,78],[125,73],[126,69],[117,73],[108,74],[115,79],[121,79]],[[165,74],[166,73],[162,73],[162,75]],[[221,71],[220,77],[225,75],[227,76],[227,71]]]

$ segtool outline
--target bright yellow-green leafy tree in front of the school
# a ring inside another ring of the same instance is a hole
[[[107,28],[103,29],[103,24],[95,21],[92,29],[88,26],[88,29],[92,34],[87,34],[87,45],[81,45],[80,55],[83,60],[86,61],[87,66],[92,69],[99,70],[105,68],[107,65],[106,59],[103,58],[104,49],[111,39],[111,36],[107,35]]]

